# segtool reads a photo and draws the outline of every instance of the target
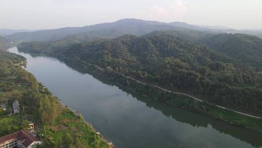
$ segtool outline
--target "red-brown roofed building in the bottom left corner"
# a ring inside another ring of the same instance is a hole
[[[36,148],[42,141],[26,130],[19,130],[0,137],[0,148]]]

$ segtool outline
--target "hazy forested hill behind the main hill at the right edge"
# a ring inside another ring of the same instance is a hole
[[[262,69],[262,39],[245,34],[217,34],[201,38],[203,44],[250,66]]]

